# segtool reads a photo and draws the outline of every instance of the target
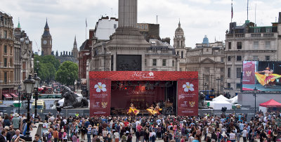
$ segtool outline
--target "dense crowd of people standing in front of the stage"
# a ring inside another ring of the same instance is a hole
[[[242,114],[204,117],[156,116],[109,116],[69,117],[53,116],[51,113],[35,122],[43,122],[44,133],[36,134],[34,141],[88,141],[88,142],[246,142],[280,141],[280,112],[259,112],[248,118]],[[0,142],[24,141],[26,133],[25,114],[0,117]],[[81,136],[81,137],[79,137]]]

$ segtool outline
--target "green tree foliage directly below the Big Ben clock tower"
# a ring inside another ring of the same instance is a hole
[[[37,60],[39,64],[37,65]],[[55,78],[55,72],[60,66],[60,61],[55,56],[37,56],[34,55],[34,72],[37,72],[41,81],[51,82]]]

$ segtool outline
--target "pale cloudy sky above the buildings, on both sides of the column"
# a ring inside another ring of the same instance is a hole
[[[258,26],[275,22],[281,12],[281,0],[249,0],[249,20]],[[81,46],[88,30],[94,29],[101,16],[118,17],[118,0],[0,0],[0,11],[13,16],[14,27],[20,25],[33,41],[33,50],[41,50],[41,34],[46,18],[53,38],[53,51],[71,51],[74,36]],[[247,0],[233,0],[233,21],[247,20]],[[138,0],[138,22],[160,24],[160,37],[174,38],[181,19],[185,46],[202,43],[206,34],[210,42],[223,41],[231,16],[231,0]],[[36,43],[37,42],[37,45]],[[173,44],[171,40],[171,44]]]

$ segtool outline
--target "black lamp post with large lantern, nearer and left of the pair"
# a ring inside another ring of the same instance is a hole
[[[23,84],[25,84],[25,93],[27,95],[27,131],[25,133],[24,139],[25,141],[32,141],[32,137],[30,136],[30,98],[34,89],[35,80],[32,79],[31,74],[28,75],[28,79],[23,81]]]

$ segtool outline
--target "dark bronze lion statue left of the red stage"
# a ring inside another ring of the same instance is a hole
[[[69,87],[63,86],[62,98],[65,98],[63,108],[87,108],[89,102],[81,94],[73,92]]]

